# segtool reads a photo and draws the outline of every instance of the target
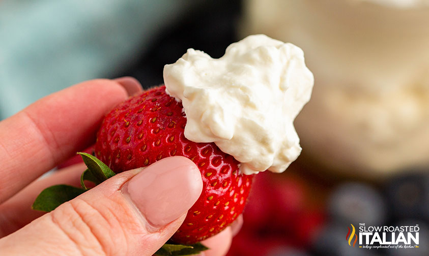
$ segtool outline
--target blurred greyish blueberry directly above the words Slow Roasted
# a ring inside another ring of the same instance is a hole
[[[334,221],[344,225],[383,225],[386,221],[386,203],[381,194],[369,185],[344,183],[331,194],[328,213]]]

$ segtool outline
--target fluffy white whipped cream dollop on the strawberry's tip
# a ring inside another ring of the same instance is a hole
[[[218,59],[188,49],[164,67],[166,92],[185,110],[185,137],[214,142],[247,175],[283,172],[299,156],[293,121],[313,81],[299,47],[265,35],[231,44]]]

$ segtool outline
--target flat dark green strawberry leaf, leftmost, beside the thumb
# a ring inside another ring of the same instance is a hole
[[[62,203],[79,196],[86,189],[69,185],[54,185],[45,188],[32,205],[33,210],[50,212]]]

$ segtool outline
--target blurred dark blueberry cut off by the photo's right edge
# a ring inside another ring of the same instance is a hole
[[[429,174],[406,173],[388,182],[386,194],[394,219],[429,221]]]

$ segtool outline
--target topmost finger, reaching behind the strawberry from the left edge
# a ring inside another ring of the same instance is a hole
[[[0,203],[95,142],[103,116],[128,97],[98,79],[53,93],[0,122]]]

